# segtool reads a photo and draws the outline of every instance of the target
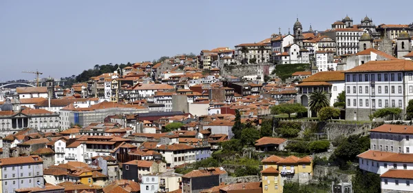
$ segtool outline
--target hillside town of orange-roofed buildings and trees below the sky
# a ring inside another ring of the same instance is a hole
[[[2,83],[1,192],[413,192],[413,23],[294,20]]]

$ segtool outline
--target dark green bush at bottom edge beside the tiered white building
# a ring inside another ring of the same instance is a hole
[[[358,170],[352,179],[353,191],[357,193],[379,193],[380,190],[380,175],[372,172],[362,172]]]

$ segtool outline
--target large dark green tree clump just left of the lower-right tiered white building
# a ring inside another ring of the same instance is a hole
[[[339,165],[341,170],[348,169],[348,161],[357,161],[357,155],[366,152],[370,148],[370,137],[358,135],[350,135],[347,138],[339,141],[330,160]]]

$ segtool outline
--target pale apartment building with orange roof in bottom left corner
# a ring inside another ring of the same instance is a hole
[[[25,187],[43,185],[43,160],[40,156],[0,159],[1,192],[12,193]]]

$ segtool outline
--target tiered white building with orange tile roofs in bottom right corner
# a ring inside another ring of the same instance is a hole
[[[361,170],[380,174],[382,192],[413,192],[413,126],[381,125],[370,130],[370,148],[359,154]]]

